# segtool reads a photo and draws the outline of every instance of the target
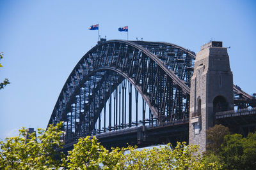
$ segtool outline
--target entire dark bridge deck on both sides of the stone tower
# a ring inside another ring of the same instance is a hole
[[[244,136],[248,132],[256,131],[256,108],[239,111],[222,111],[215,115],[215,124],[227,126],[231,132],[241,133]],[[130,127],[117,131],[96,134],[99,142],[110,149],[111,147],[124,147],[125,144],[137,145],[138,148],[172,143],[176,141],[188,142],[189,118],[166,122],[161,125],[145,125]],[[63,146],[64,151],[71,150],[77,141]],[[126,145],[127,146],[127,145]]]

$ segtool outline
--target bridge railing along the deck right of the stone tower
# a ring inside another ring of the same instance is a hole
[[[227,118],[227,117],[239,117],[243,115],[253,115],[256,114],[256,108],[246,108],[241,110],[228,110],[215,113],[215,117]]]

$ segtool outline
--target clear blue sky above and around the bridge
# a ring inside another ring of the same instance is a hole
[[[256,3],[215,1],[0,0],[0,139],[20,127],[45,128],[68,75],[97,43],[126,39],[165,41],[194,52],[210,40],[228,49],[234,83],[256,92]]]

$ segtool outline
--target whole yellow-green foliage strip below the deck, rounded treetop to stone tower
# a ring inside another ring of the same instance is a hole
[[[198,146],[177,143],[159,148],[112,148],[111,152],[97,139],[79,139],[67,157],[69,169],[218,169],[218,162],[206,164],[197,153]]]

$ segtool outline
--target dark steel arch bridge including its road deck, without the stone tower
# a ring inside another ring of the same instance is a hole
[[[195,58],[172,43],[101,39],[68,76],[49,124],[64,122],[67,149],[92,135],[107,148],[188,141]],[[236,111],[216,112],[214,124],[254,131],[255,97],[232,89]]]

